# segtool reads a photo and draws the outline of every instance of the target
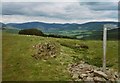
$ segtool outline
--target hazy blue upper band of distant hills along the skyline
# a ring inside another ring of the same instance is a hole
[[[27,23],[9,23],[6,26],[15,27],[19,29],[28,29],[28,28],[40,28],[41,30],[47,32],[49,30],[102,30],[103,25],[113,24],[117,25],[118,22],[88,22],[84,24],[77,23],[43,23],[43,22],[27,22]],[[4,25],[4,24],[3,24]]]

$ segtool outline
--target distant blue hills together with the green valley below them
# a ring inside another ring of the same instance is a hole
[[[118,22],[88,22],[77,23],[44,23],[44,22],[26,22],[26,23],[0,23],[3,29],[9,29],[9,32],[18,32],[21,29],[37,28],[44,33],[60,34],[65,36],[74,36],[79,39],[102,39],[102,31],[105,24],[111,24],[114,27],[108,31],[109,37],[113,39],[118,35]],[[14,31],[10,31],[14,30]],[[91,33],[91,34],[89,34]]]

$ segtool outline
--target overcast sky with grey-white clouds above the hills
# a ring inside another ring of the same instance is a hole
[[[103,0],[74,0],[74,2],[72,0],[65,0],[64,2],[4,0],[0,14],[2,14],[0,22],[3,23],[117,21],[118,2],[117,0],[109,0],[109,2],[103,2]]]

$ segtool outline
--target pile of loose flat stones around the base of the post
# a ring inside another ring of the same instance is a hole
[[[118,73],[114,70],[107,69],[104,73],[102,68],[98,68],[84,62],[69,64],[68,70],[74,81],[118,81]]]

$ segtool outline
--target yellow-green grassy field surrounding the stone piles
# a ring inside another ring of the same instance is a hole
[[[36,60],[33,46],[40,42],[60,44],[60,54],[48,60]],[[65,81],[71,80],[68,64],[84,60],[86,63],[102,67],[101,40],[72,40],[3,33],[2,39],[3,81]],[[73,46],[84,44],[88,50],[78,50]],[[107,42],[107,67],[118,69],[118,41]]]

